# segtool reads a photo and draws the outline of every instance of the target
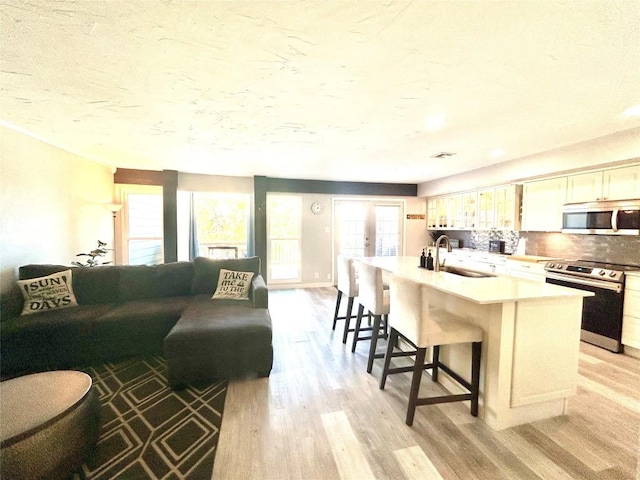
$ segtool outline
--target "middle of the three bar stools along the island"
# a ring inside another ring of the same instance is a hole
[[[357,262],[356,269],[358,271],[358,301],[360,306],[358,307],[351,351],[356,351],[356,345],[360,340],[371,340],[369,361],[367,363],[367,372],[371,373],[374,358],[382,358],[384,356],[383,354],[376,354],[376,347],[381,328],[384,331],[383,336],[388,336],[389,290],[384,289],[381,268]],[[362,326],[362,316],[365,308],[373,315],[373,325],[371,327]],[[360,336],[360,333],[365,331],[370,331],[371,335]]]

